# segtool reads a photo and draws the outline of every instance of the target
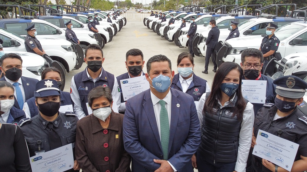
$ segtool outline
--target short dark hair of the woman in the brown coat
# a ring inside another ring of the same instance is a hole
[[[92,107],[92,102],[95,98],[105,97],[110,101],[110,104],[113,101],[112,91],[110,87],[97,86],[93,88],[87,95],[88,105]]]

